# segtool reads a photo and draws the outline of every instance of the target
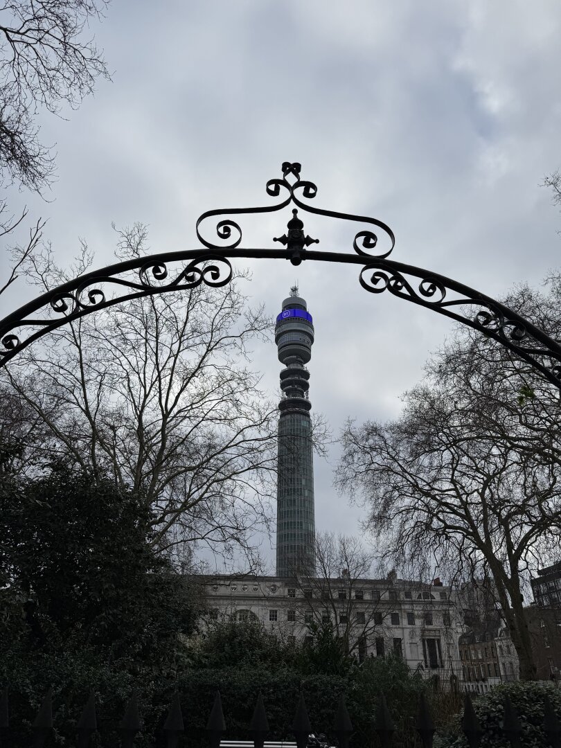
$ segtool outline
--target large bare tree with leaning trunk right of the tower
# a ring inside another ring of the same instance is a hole
[[[550,288],[540,297],[521,287],[509,305],[553,331],[558,279]],[[450,581],[491,577],[521,677],[534,678],[523,592],[561,539],[555,388],[502,346],[459,331],[406,394],[402,417],[349,422],[342,438],[338,485],[367,503],[387,557]]]

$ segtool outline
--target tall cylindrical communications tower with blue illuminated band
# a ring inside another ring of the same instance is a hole
[[[275,327],[283,396],[278,405],[277,576],[314,574],[313,454],[310,373],[312,316],[292,286]]]

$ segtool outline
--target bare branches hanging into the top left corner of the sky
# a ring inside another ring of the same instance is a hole
[[[85,36],[106,0],[5,0],[0,4],[0,169],[40,191],[53,159],[38,139],[40,108],[76,108],[108,70]]]

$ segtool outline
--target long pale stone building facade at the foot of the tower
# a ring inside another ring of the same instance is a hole
[[[403,657],[435,684],[459,688],[462,621],[449,587],[397,579],[209,577],[210,619],[260,622],[279,638],[311,640],[310,625],[331,624],[359,662]]]

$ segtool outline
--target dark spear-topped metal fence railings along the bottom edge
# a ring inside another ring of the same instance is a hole
[[[561,722],[555,714],[548,697],[544,698],[544,720],[542,729],[546,736],[545,747],[561,748]],[[423,695],[420,696],[419,710],[417,712],[416,729],[420,736],[420,742],[423,748],[432,748],[433,738],[435,735],[435,724],[432,720],[429,706]],[[49,746],[53,730],[52,719],[52,692],[46,694],[43,703],[40,705],[37,716],[32,723],[34,748],[43,748]],[[325,729],[325,728],[324,728]],[[465,695],[465,708],[462,717],[462,729],[468,741],[470,748],[477,748],[481,744],[485,732],[477,719],[470,695]],[[122,748],[134,748],[135,738],[142,732],[142,720],[138,714],[138,700],[135,694],[126,705],[123,719],[119,723],[120,745]],[[395,726],[387,708],[387,702],[384,694],[381,693],[378,700],[378,708],[375,713],[374,730],[378,735],[379,742],[383,748],[390,748],[392,745],[393,733]],[[519,748],[521,746],[522,724],[520,715],[512,705],[507,696],[504,701],[504,715],[501,725],[503,738],[512,746]],[[97,717],[95,696],[90,694],[88,702],[85,705],[82,716],[76,723],[76,746],[78,748],[90,748],[92,745],[93,735],[97,731]],[[175,693],[171,702],[168,716],[165,720],[163,731],[165,733],[165,742],[168,748],[178,748],[183,741],[186,732],[183,723],[183,714],[181,711],[180,694]],[[7,689],[4,689],[0,699],[0,745],[8,747],[10,745],[10,719]],[[206,735],[209,742],[209,748],[220,748],[221,742],[224,744],[225,734],[227,732],[220,693],[216,692],[214,705],[209,714],[206,723]],[[266,737],[269,735],[269,722],[263,704],[261,694],[257,697],[254,714],[249,726],[249,732],[252,737],[254,748],[264,748]],[[292,734],[295,737],[296,748],[306,748],[308,736],[313,732],[310,720],[308,718],[306,704],[303,694],[296,707],[294,720],[292,720]],[[334,719],[333,734],[337,738],[339,748],[349,748],[349,739],[352,735],[352,722],[349,717],[343,696],[340,698],[337,713]],[[113,747],[111,747],[113,748]],[[266,747],[268,748],[268,747]]]

